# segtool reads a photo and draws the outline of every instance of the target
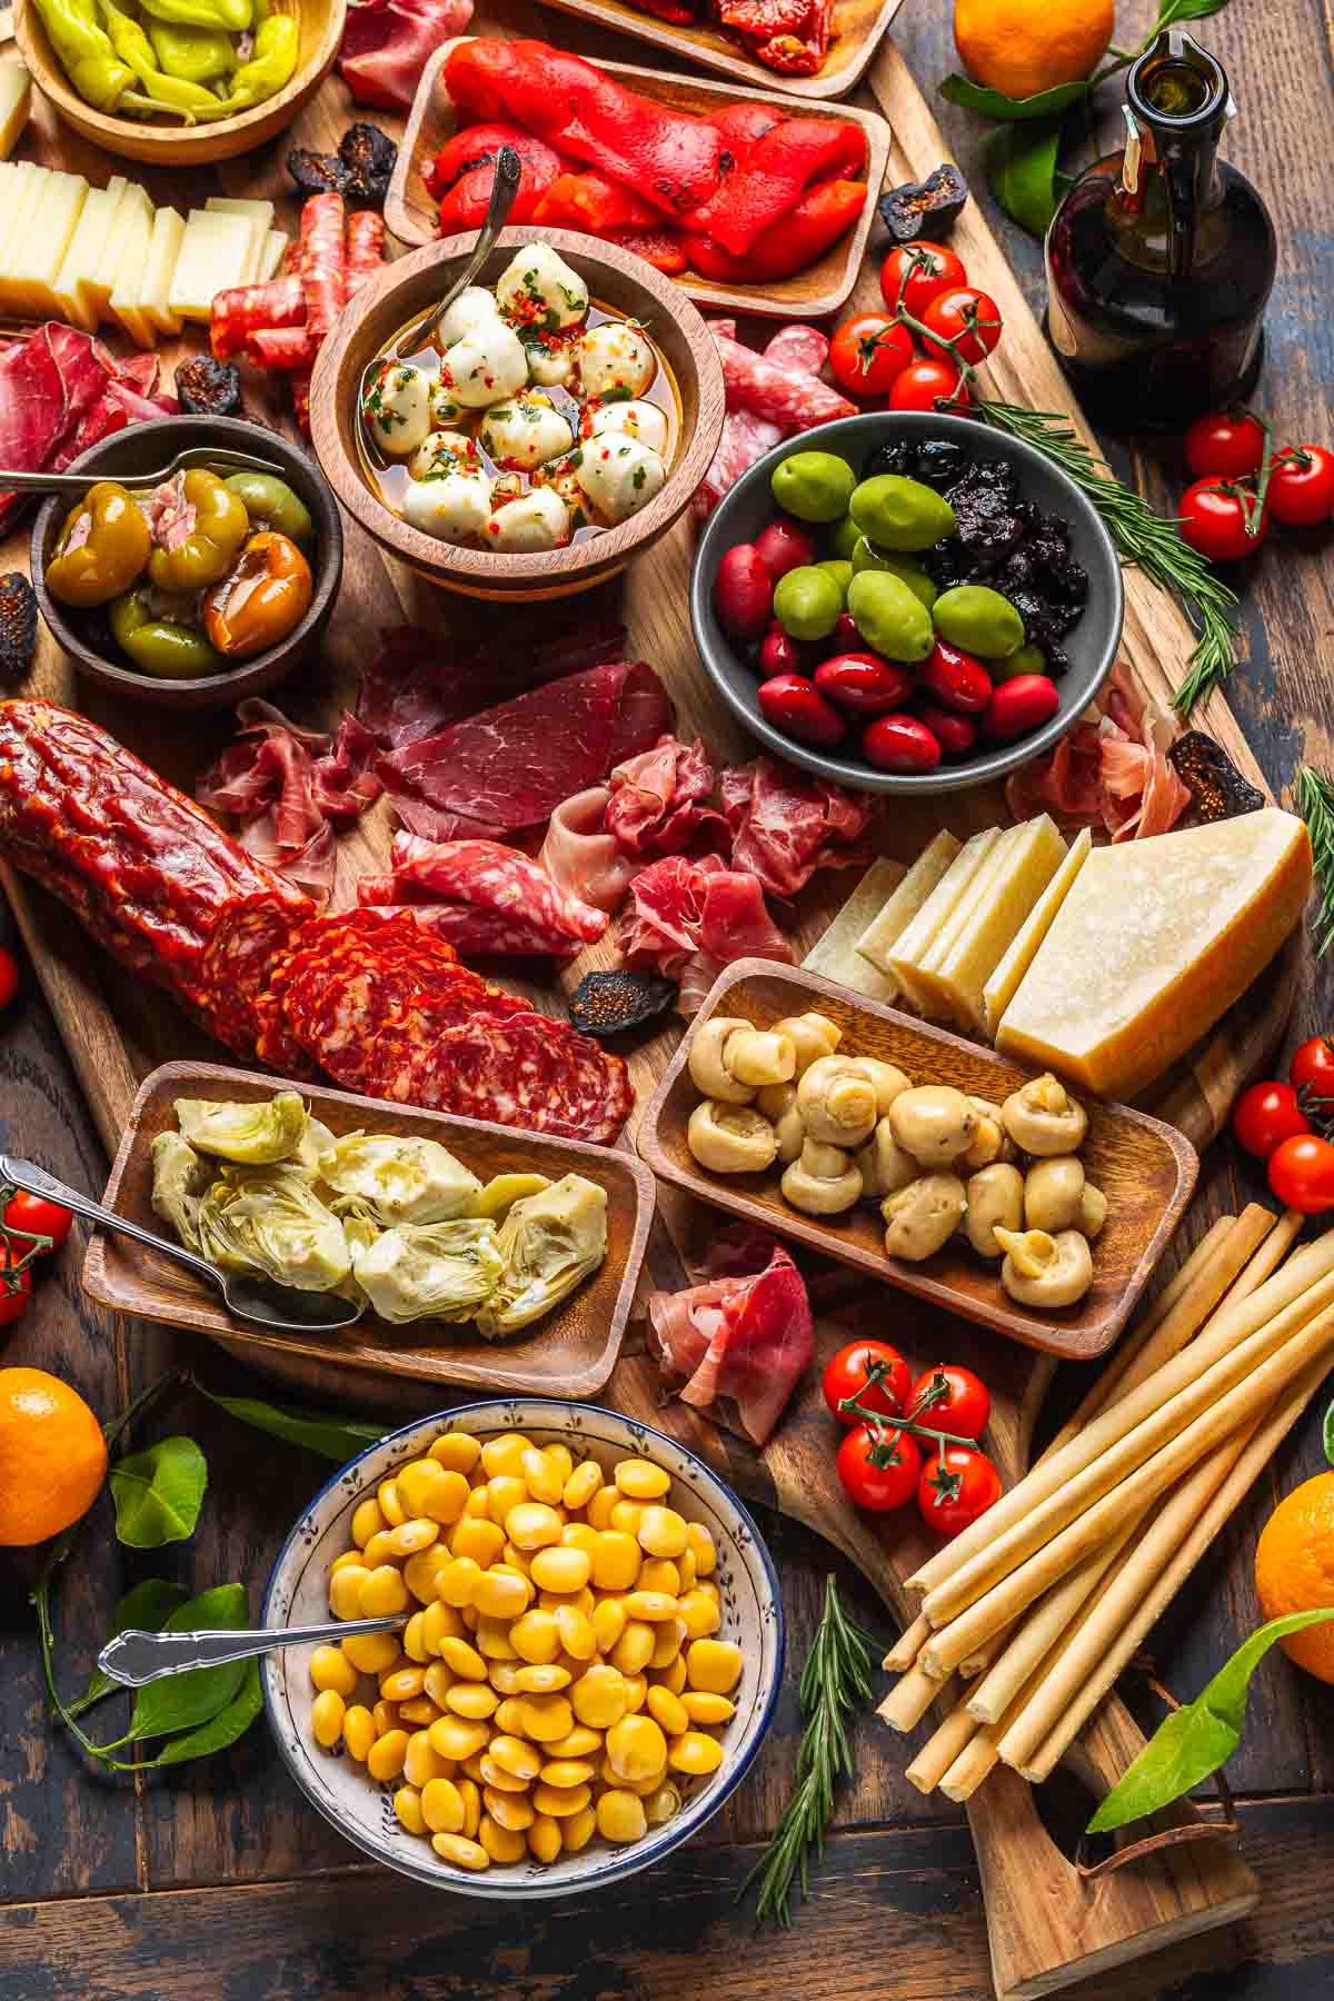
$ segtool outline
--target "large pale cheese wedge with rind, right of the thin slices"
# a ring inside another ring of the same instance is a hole
[[[1310,836],[1278,806],[1096,848],[996,1049],[1134,1097],[1226,1015],[1302,916]]]

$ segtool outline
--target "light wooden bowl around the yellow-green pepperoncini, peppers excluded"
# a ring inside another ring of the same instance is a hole
[[[334,66],[348,0],[276,0],[276,6],[284,14],[296,14],[302,30],[292,82],[254,110],[202,126],[94,112],[56,60],[32,0],[14,0],[14,40],[32,82],[52,100],[64,122],[94,146],[122,160],[146,160],[152,166],[208,166],[214,160],[234,160],[240,152],[254,152],[256,146],[266,146],[270,138],[286,132]]]

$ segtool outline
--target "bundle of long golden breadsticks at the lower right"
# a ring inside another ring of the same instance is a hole
[[[896,1731],[944,1721],[908,1777],[970,1799],[1042,1781],[1082,1731],[1334,1361],[1334,1231],[1222,1217],[1032,1471],[910,1579],[884,1665]]]

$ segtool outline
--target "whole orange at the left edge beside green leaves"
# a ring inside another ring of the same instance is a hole
[[[44,1369],[0,1369],[0,1545],[60,1535],[104,1477],[106,1439],[78,1391]]]

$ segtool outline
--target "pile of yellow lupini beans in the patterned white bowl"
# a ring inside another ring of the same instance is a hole
[[[334,1617],[410,1617],[314,1649],[310,1729],[398,1781],[442,1861],[640,1841],[722,1765],[742,1649],[716,1637],[714,1539],[670,1487],[648,1459],[608,1483],[560,1443],[452,1431],[356,1507]]]

